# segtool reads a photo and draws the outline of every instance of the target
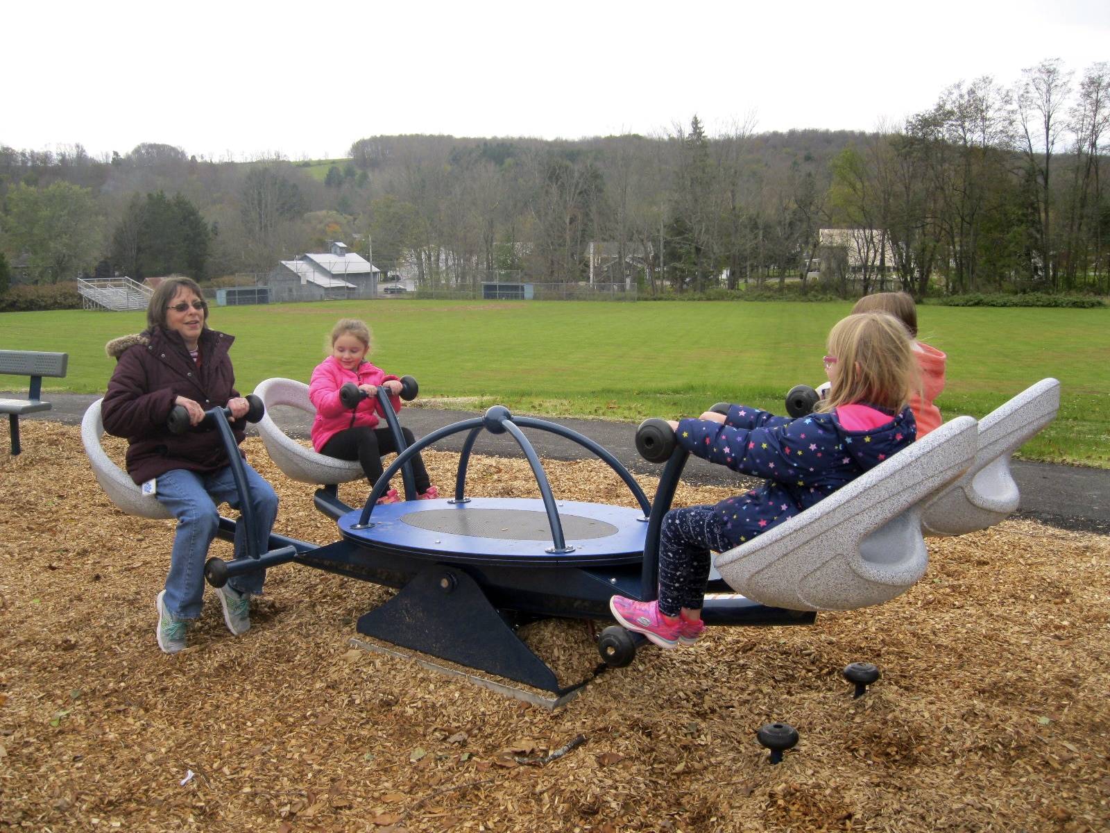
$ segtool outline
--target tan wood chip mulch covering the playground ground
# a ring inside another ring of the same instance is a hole
[[[208,591],[190,648],[161,654],[173,523],[114,509],[78,429],[26,422],[23,444],[0,451],[0,830],[1110,829],[1110,538],[1008,521],[930,541],[888,604],[645,649],[548,712],[352,649],[389,591],[294,565],[248,634]],[[245,448],[276,530],[333,541],[312,488]],[[450,489],[456,455],[426,461]],[[558,498],[632,504],[601,463],[545,466]],[[475,458],[470,483],[536,494],[523,460]],[[527,639],[563,679],[597,662],[582,622]],[[854,661],[882,669],[859,700]],[[755,741],[773,721],[801,734],[777,766]]]

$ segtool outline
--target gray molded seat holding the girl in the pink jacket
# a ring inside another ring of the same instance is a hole
[[[258,423],[259,434],[274,464],[285,475],[301,483],[332,485],[346,483],[365,476],[359,461],[336,460],[317,454],[282,431],[270,415],[275,405],[297,408],[312,416],[316,409],[309,400],[309,385],[293,379],[266,379],[254,389],[266,407],[266,412]]]

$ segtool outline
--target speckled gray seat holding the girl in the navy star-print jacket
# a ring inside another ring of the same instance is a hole
[[[958,416],[820,503],[717,556],[738,593],[789,610],[854,610],[912,586],[929,563],[921,511],[971,465],[977,423]]]

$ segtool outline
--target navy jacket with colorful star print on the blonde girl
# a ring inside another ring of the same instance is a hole
[[[725,424],[678,423],[678,442],[692,454],[766,483],[714,509],[725,536],[738,546],[803,512],[906,448],[917,434],[909,408],[888,422],[849,431],[837,411],[790,419],[731,405]]]

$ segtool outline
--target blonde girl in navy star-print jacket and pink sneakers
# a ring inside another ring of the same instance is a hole
[[[917,363],[906,328],[886,313],[849,315],[829,333],[831,389],[820,412],[790,419],[745,405],[672,422],[692,454],[765,479],[715,506],[674,509],[659,539],[659,596],[615,595],[614,618],[663,648],[693,643],[704,630],[702,602],[710,551],[750,541],[813,506],[914,442],[907,407]]]

